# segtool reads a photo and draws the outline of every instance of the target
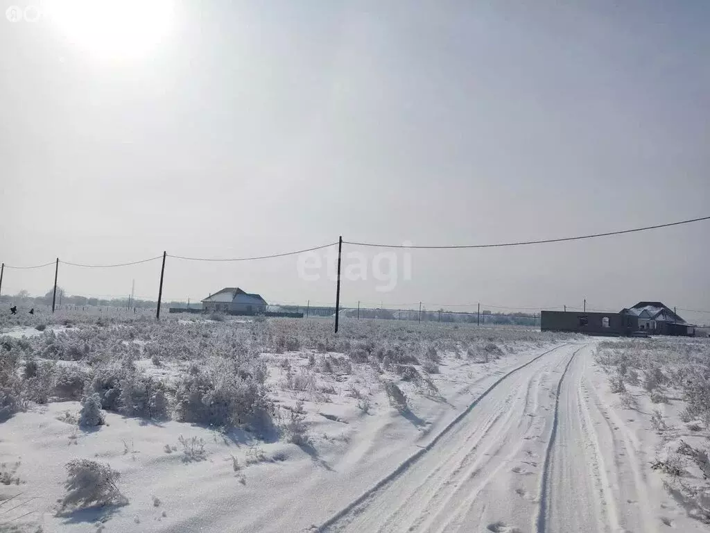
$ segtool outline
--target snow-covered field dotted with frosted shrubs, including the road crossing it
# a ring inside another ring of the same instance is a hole
[[[0,532],[707,530],[710,405],[683,381],[710,372],[707,340],[77,313],[0,328]]]

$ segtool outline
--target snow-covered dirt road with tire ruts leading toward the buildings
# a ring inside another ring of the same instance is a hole
[[[593,353],[594,343],[571,343],[506,373],[320,531],[667,529],[667,497],[645,475],[650,458],[638,439],[594,384]]]

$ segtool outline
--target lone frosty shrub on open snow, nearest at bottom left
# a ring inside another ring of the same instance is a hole
[[[75,459],[67,463],[66,468],[68,478],[64,486],[67,494],[61,502],[62,510],[127,502],[116,486],[119,473],[109,465]]]

